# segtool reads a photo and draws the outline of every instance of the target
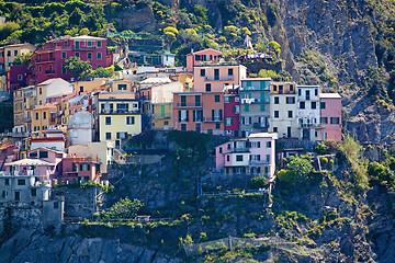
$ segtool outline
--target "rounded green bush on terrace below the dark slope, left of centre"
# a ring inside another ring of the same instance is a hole
[[[109,218],[134,218],[136,213],[144,206],[139,199],[121,198],[106,213]]]

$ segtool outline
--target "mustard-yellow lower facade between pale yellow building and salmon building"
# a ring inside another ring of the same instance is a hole
[[[172,129],[172,103],[155,103],[151,104],[153,107],[153,118],[151,118],[151,128],[153,129]]]

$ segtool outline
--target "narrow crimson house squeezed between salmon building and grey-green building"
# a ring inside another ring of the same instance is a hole
[[[239,136],[240,96],[239,87],[228,85],[224,93],[224,129],[225,135]]]

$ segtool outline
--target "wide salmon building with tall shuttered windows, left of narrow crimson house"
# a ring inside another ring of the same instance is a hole
[[[224,135],[223,92],[174,92],[173,127]]]

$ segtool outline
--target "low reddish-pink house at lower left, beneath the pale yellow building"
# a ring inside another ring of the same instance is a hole
[[[100,162],[90,157],[69,157],[63,162],[63,174],[58,178],[63,183],[100,182]]]

